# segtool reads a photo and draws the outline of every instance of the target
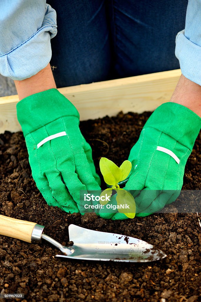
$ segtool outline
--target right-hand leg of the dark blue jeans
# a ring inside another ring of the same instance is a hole
[[[113,0],[115,71],[119,77],[179,68],[175,36],[187,0]]]

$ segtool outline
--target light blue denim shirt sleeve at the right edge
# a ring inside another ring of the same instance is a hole
[[[175,55],[182,74],[201,85],[201,0],[189,0],[185,29],[176,36]]]

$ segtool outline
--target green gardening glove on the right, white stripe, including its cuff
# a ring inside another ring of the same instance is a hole
[[[157,212],[179,196],[200,127],[198,115],[172,102],[162,104],[149,117],[130,151],[132,170],[124,188],[135,199],[136,216]],[[108,213],[105,216],[109,218]],[[111,219],[127,217],[116,212]]]

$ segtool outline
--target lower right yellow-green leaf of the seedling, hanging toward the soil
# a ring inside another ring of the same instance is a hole
[[[124,190],[124,189],[118,189],[117,190],[117,196],[116,196],[117,205],[127,205],[129,208],[125,209],[118,209],[119,213],[124,213],[128,218],[134,218],[135,212],[136,212],[136,205],[135,200],[133,196],[130,194],[130,192]]]

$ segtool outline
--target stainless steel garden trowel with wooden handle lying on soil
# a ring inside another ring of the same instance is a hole
[[[68,259],[149,262],[166,257],[165,253],[151,244],[129,236],[88,230],[74,224],[68,227],[71,246],[60,243],[43,233],[44,226],[0,215],[0,235],[17,238],[29,243],[39,243],[41,239],[60,249]]]

